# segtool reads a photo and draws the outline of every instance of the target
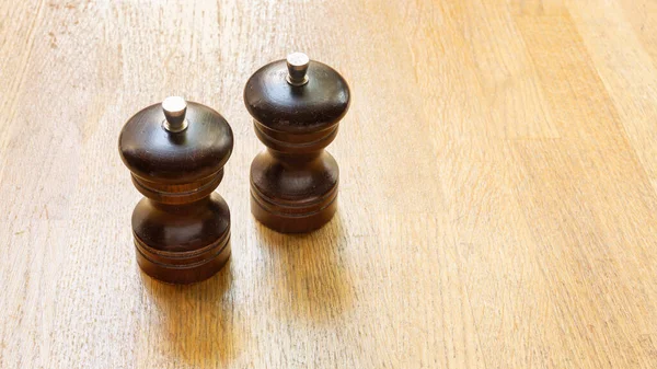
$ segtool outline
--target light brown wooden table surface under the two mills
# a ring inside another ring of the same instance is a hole
[[[1,368],[656,368],[657,2],[3,1]],[[349,81],[338,212],[249,208],[260,66]],[[123,124],[232,125],[232,257],[140,273]]]

